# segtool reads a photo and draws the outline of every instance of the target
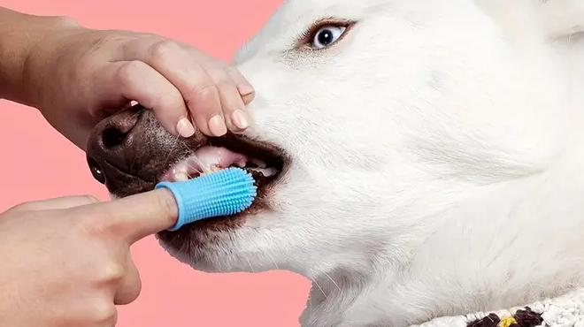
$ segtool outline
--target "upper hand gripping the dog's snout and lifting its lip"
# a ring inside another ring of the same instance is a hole
[[[240,72],[159,35],[56,28],[29,51],[25,68],[32,103],[82,149],[96,123],[131,101],[173,135],[191,136],[192,122],[209,136],[250,125],[244,110],[254,89]]]

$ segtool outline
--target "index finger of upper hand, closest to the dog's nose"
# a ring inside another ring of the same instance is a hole
[[[119,61],[104,68],[96,77],[106,85],[105,97],[134,100],[154,112],[165,130],[189,137],[195,133],[181,92],[150,65],[142,61]]]

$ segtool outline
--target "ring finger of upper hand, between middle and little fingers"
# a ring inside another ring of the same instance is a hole
[[[244,111],[245,103],[227,70],[220,66],[211,66],[207,68],[207,72],[219,90],[219,99],[227,128],[234,132],[248,128],[250,118]]]

